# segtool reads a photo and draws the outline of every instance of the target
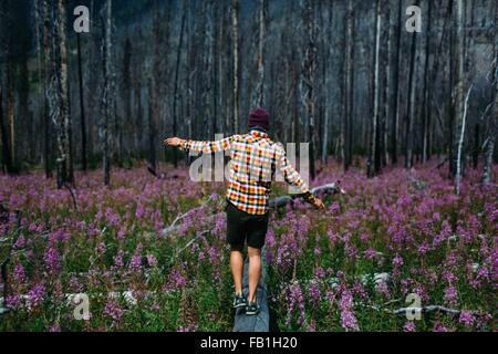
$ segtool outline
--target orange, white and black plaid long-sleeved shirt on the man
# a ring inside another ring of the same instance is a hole
[[[268,211],[271,180],[277,168],[307,201],[314,199],[299,173],[289,164],[283,146],[270,140],[266,133],[252,129],[216,142],[181,140],[180,148],[204,154],[229,150],[227,199],[248,214],[264,215]]]

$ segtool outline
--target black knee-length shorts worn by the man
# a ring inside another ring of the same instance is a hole
[[[247,246],[262,248],[268,230],[269,214],[251,215],[227,201],[227,240],[232,249],[241,251]]]

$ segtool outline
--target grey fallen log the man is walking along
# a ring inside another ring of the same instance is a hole
[[[234,332],[269,332],[270,331],[270,310],[268,308],[268,291],[266,284],[267,264],[264,249],[261,252],[262,272],[256,291],[257,302],[260,304],[260,311],[257,315],[247,315],[245,309],[237,309],[234,321]],[[242,292],[249,295],[248,281],[249,257],[246,258],[243,266]]]

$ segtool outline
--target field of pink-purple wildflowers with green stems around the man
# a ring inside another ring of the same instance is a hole
[[[0,176],[0,261],[11,258],[0,331],[230,331],[224,185],[163,170],[116,169],[110,188],[100,171],[77,175],[72,192],[41,173]],[[456,196],[435,164],[374,179],[339,170],[312,183],[342,180],[325,212],[297,201],[271,215],[271,330],[496,331],[496,180],[483,187],[469,169]],[[87,321],[74,317],[76,293]],[[393,313],[412,293],[456,311]]]

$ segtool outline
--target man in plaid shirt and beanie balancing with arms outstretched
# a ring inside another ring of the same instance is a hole
[[[230,153],[230,178],[227,190],[227,239],[231,247],[230,269],[234,278],[234,308],[246,308],[246,314],[259,312],[256,289],[261,275],[261,248],[268,229],[268,201],[271,179],[277,168],[286,181],[300,190],[300,196],[319,209],[323,202],[315,198],[289,164],[281,144],[268,137],[269,116],[262,108],[249,114],[249,133],[232,135],[217,142],[195,142],[172,137],[165,145],[197,153]],[[242,294],[243,246],[249,254],[249,296]]]

